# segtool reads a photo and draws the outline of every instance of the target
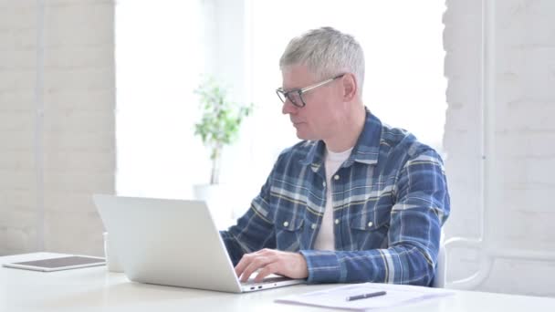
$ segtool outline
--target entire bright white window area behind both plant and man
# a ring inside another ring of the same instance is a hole
[[[198,117],[193,89],[199,74],[211,68],[257,106],[222,163],[221,181],[240,185],[236,205],[248,208],[278,153],[298,141],[275,94],[281,86],[279,57],[291,37],[319,26],[333,26],[361,42],[366,106],[441,152],[444,3],[119,1],[118,192],[186,198],[194,183],[208,181],[210,161],[193,135]],[[230,74],[234,62],[244,68]]]

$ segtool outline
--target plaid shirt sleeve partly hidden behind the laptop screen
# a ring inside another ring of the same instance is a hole
[[[272,173],[236,225],[220,232],[233,265],[245,254],[263,248],[276,248],[276,232],[273,222],[270,221],[268,203],[271,177]]]

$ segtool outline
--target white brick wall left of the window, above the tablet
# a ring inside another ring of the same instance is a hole
[[[0,255],[41,245],[102,255],[102,224],[90,195],[115,188],[114,4],[44,5],[0,1]]]

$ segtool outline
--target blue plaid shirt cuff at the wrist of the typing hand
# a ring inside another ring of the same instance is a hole
[[[301,255],[307,260],[309,270],[309,284],[340,283],[345,280],[345,270],[340,266],[340,259],[333,251],[301,250]]]

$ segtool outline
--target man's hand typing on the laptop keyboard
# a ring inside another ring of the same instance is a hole
[[[256,253],[243,255],[241,261],[236,265],[236,275],[241,278],[241,282],[246,282],[258,269],[255,282],[270,274],[288,276],[290,278],[307,278],[309,269],[307,260],[298,253],[282,252],[274,249],[262,249]]]

